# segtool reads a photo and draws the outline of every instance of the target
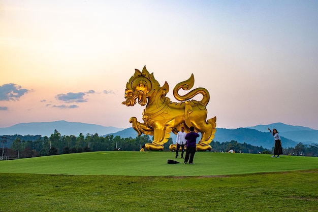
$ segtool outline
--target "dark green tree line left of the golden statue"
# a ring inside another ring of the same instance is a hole
[[[36,139],[21,139],[21,136],[14,136],[10,148],[5,148],[6,156],[9,158],[29,158],[48,155],[60,155],[69,153],[93,152],[93,151],[140,151],[145,143],[151,143],[148,135],[137,136],[136,138],[121,138],[120,136],[106,135],[99,136],[98,133],[82,133],[79,136],[61,135],[57,130],[50,137],[37,135]],[[28,138],[32,136],[28,135]],[[165,151],[169,151],[172,138],[164,145]]]

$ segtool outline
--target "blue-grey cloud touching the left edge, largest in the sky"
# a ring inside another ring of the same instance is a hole
[[[0,86],[0,101],[19,100],[21,96],[29,91],[14,83],[4,84]]]

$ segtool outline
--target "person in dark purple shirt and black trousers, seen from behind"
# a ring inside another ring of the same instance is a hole
[[[195,164],[193,162],[193,158],[196,153],[196,144],[197,144],[197,137],[200,135],[195,132],[195,127],[190,127],[190,132],[185,135],[186,139],[186,151],[185,151],[185,158],[184,158],[184,164],[186,164],[189,160],[189,164]]]

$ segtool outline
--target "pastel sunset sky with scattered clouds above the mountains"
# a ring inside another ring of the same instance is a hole
[[[0,127],[131,127],[144,107],[121,102],[146,65],[175,102],[194,74],[218,128],[318,129],[317,11],[307,0],[0,0]]]

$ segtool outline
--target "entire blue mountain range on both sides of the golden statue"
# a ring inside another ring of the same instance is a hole
[[[238,143],[246,143],[253,146],[262,146],[263,148],[271,149],[274,146],[274,138],[267,128],[276,128],[278,130],[281,137],[282,146],[284,148],[295,147],[298,143],[318,143],[318,130],[283,123],[257,125],[244,128],[241,127],[237,129],[217,128],[213,140],[220,143],[236,140]],[[20,134],[50,136],[54,133],[55,129],[59,131],[61,135],[78,136],[80,133],[83,135],[88,133],[98,133],[100,136],[118,135],[122,138],[135,138],[137,136],[137,132],[132,127],[124,129],[67,121],[16,124],[11,127],[0,128],[0,135]],[[171,138],[175,143],[176,135],[171,133]]]

